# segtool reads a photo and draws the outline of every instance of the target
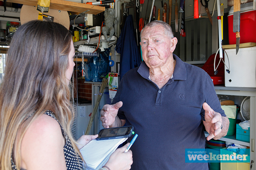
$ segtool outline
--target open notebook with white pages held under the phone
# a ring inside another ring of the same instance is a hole
[[[98,170],[108,162],[116,148],[128,138],[95,140],[85,145],[80,152],[85,160],[86,170]]]

